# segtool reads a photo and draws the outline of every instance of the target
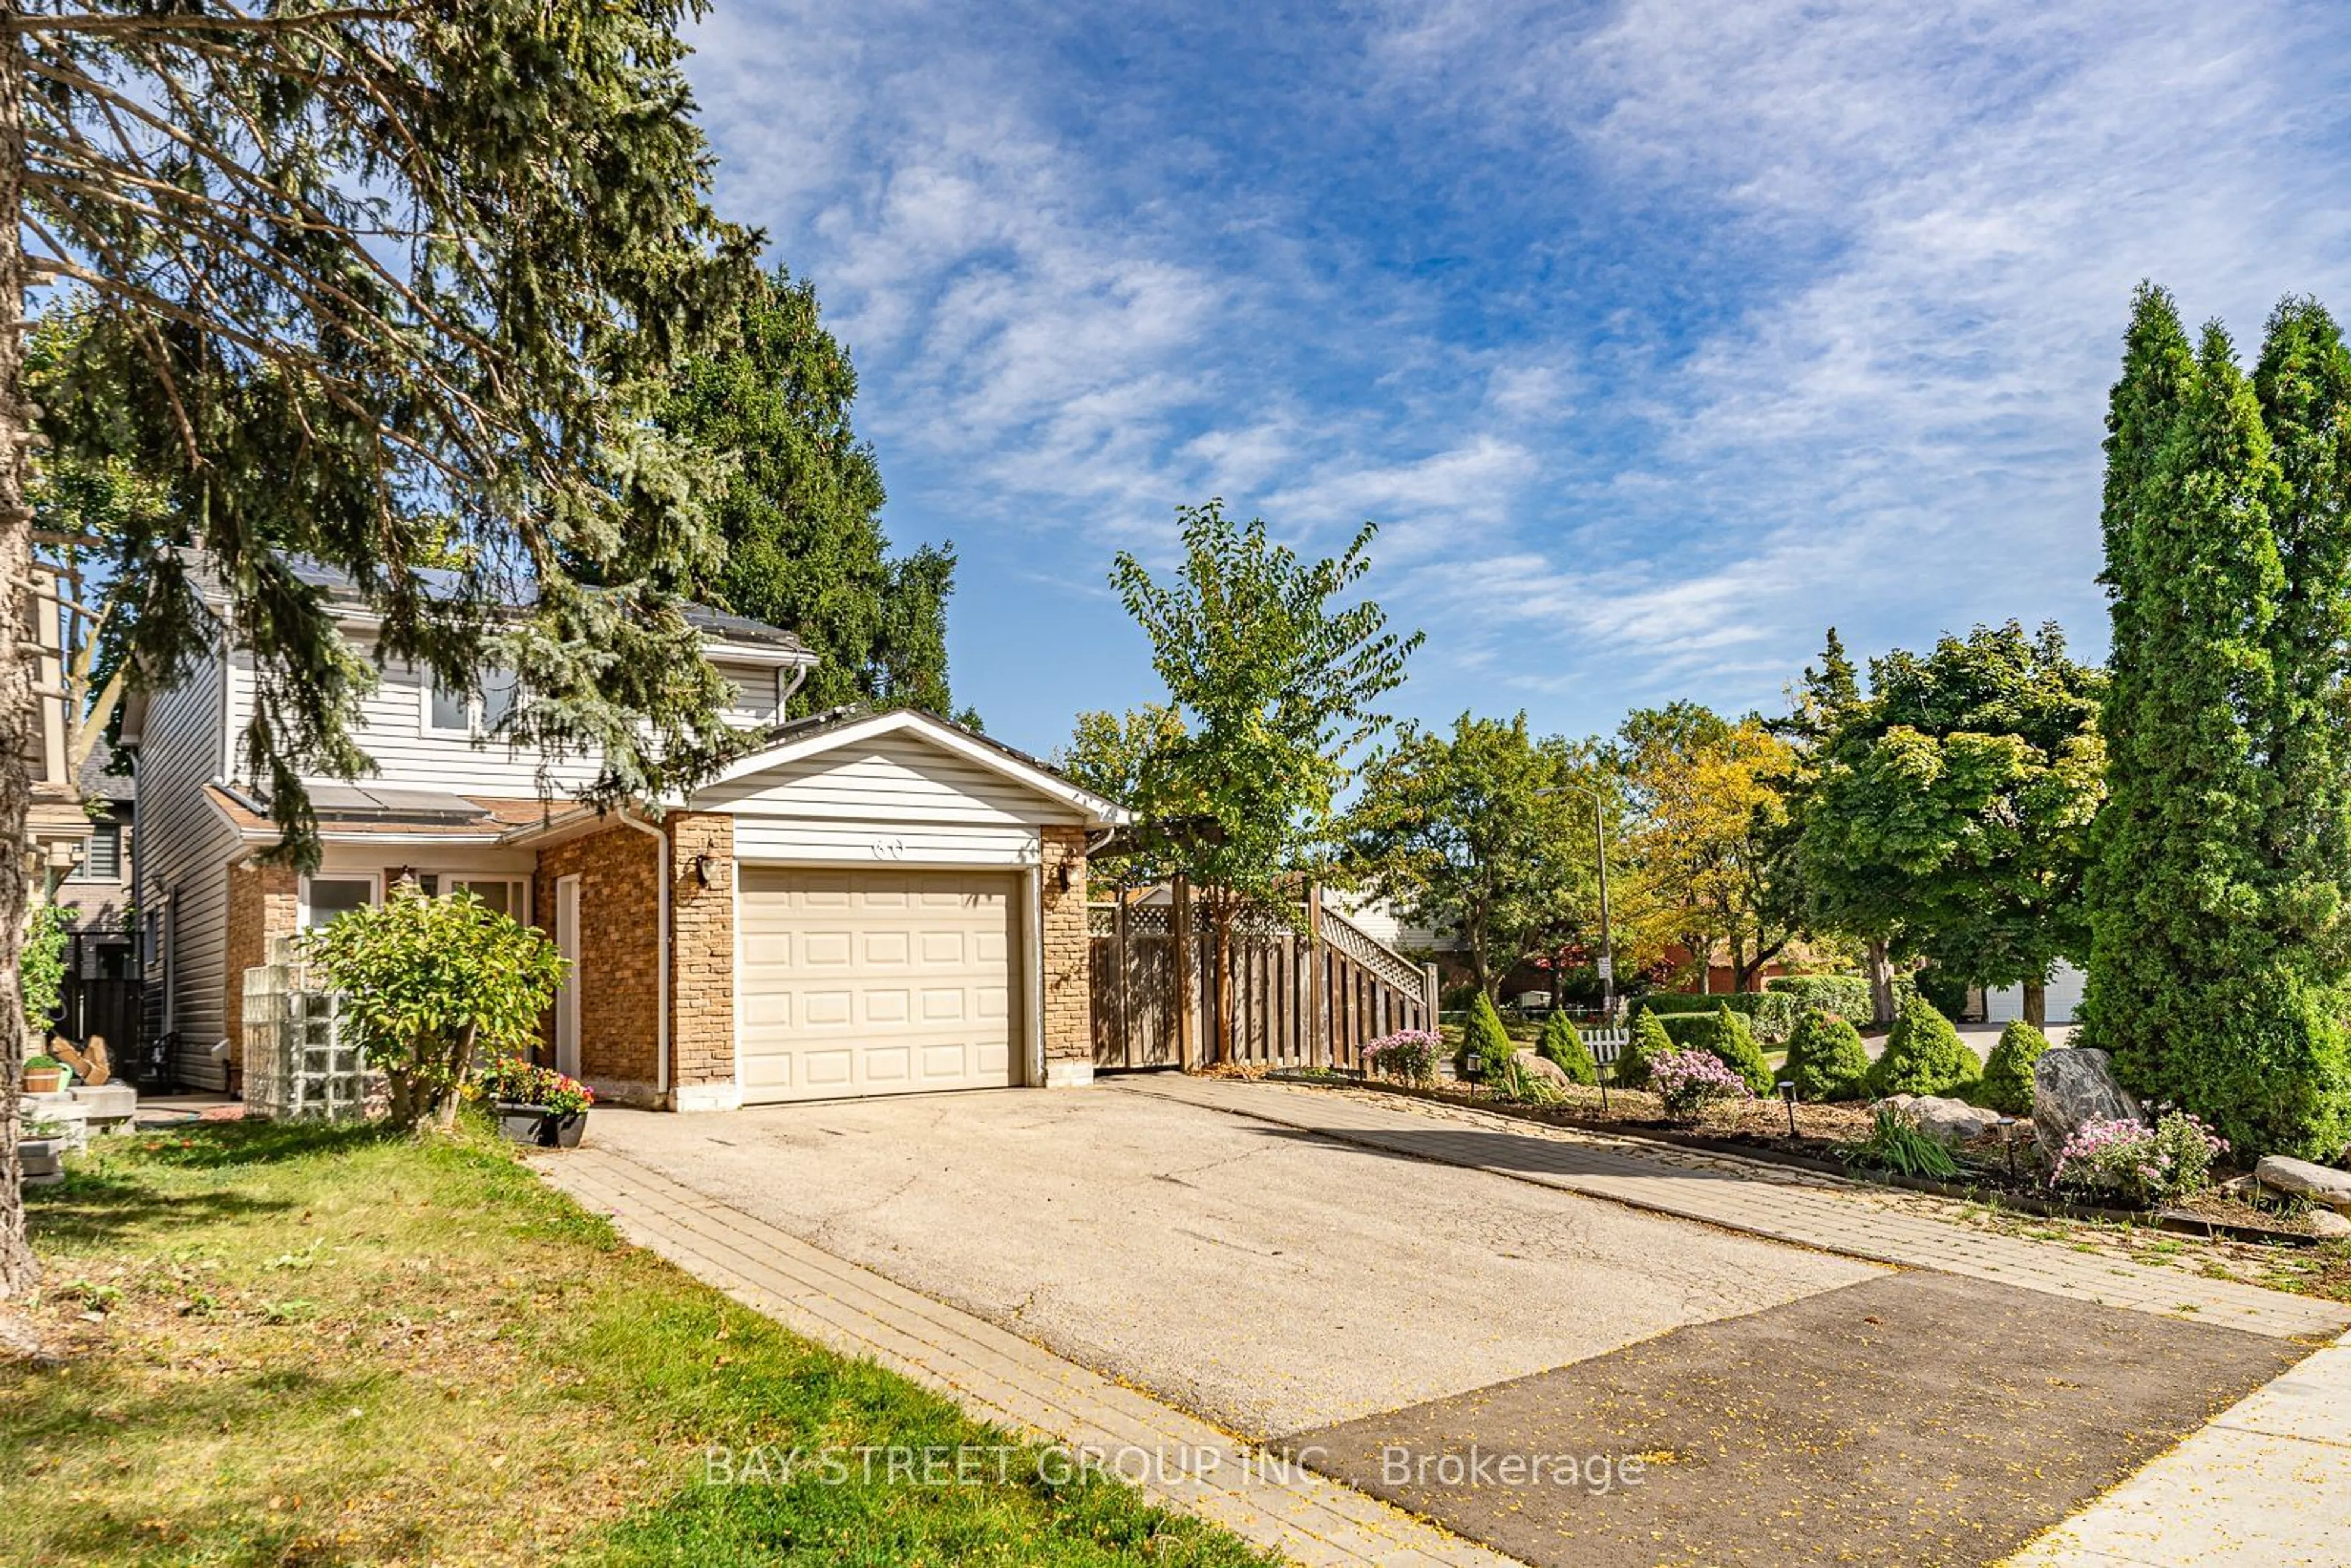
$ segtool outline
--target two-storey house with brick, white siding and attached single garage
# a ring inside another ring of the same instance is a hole
[[[343,635],[371,621],[331,574]],[[696,611],[764,733],[682,799],[600,813],[538,795],[541,757],[491,731],[513,679],[442,691],[393,663],[364,703],[364,780],[315,778],[322,863],[270,863],[268,802],[237,771],[245,654],[143,703],[141,898],[150,1025],[176,1074],[237,1088],[242,976],[277,933],[411,877],[545,929],[574,969],[548,1058],[604,1100],[724,1110],[1093,1077],[1089,842],[1124,811],[924,712],[783,722],[816,656],[788,630]],[[555,785],[595,776],[552,759]]]

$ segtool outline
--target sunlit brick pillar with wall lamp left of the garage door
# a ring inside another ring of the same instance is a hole
[[[734,1110],[734,818],[672,811],[670,1107]]]

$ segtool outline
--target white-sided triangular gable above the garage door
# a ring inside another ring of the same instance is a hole
[[[696,811],[736,813],[741,835],[752,818],[889,823],[915,827],[1034,827],[1081,823],[1077,806],[1056,806],[994,769],[907,736],[842,745],[752,778],[698,790]]]

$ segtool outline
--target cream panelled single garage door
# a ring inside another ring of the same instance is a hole
[[[1016,1081],[1018,886],[1004,872],[743,867],[743,1100]]]

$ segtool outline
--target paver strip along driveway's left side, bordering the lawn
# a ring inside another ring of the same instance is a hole
[[[632,1241],[726,1291],[785,1328],[868,1356],[933,1387],[980,1420],[1110,1460],[1161,1455],[1166,1474],[1136,1479],[1295,1563],[1451,1563],[1509,1559],[1420,1523],[1364,1493],[1284,1467],[1171,1406],[1065,1361],[1018,1335],[896,1286],[773,1225],[682,1187],[632,1159],[574,1150],[541,1173]]]

